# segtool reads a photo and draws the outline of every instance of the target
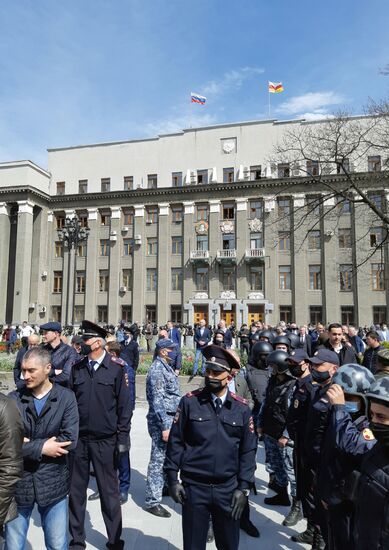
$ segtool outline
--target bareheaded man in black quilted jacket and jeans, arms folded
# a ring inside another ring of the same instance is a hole
[[[68,453],[77,443],[78,412],[73,392],[53,384],[50,354],[34,348],[25,354],[25,388],[10,394],[24,424],[23,477],[16,485],[18,516],[6,524],[6,550],[25,547],[35,504],[48,548],[67,548]]]

